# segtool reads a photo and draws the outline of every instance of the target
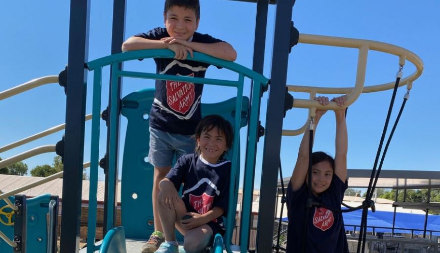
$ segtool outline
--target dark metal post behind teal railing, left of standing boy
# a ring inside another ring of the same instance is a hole
[[[124,42],[125,37],[125,16],[126,16],[126,6],[127,6],[127,0],[114,0],[113,1],[113,28],[111,33],[111,54],[117,54],[122,52],[122,43]],[[119,63],[118,69],[122,69],[123,64]],[[117,94],[118,94],[118,101],[117,104],[111,104],[110,94],[111,94],[111,75],[112,70],[110,69],[110,88],[108,93],[108,115],[110,115],[111,110],[117,111],[117,117],[116,117],[116,152],[115,152],[115,159],[114,163],[110,164],[110,161],[108,160],[109,156],[106,156],[106,165],[107,168],[110,168],[112,166],[115,167],[114,175],[113,175],[113,182],[109,182],[108,178],[109,176],[105,175],[105,193],[104,193],[104,229],[102,231],[102,236],[105,236],[107,231],[112,229],[114,227],[114,222],[116,220],[116,208],[117,208],[117,165],[118,165],[118,147],[119,147],[119,125],[120,125],[120,115],[121,115],[121,90],[122,90],[122,80],[119,77],[117,79]],[[110,128],[107,127],[107,153],[110,154]],[[107,172],[109,173],[109,172]],[[114,184],[114,192],[113,196],[114,199],[109,200],[108,199],[108,184]],[[113,219],[111,221],[108,220],[108,211],[112,208],[112,217]]]

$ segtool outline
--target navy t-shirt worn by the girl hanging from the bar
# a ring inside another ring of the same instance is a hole
[[[329,189],[318,197],[313,195],[313,201],[335,209],[341,209],[347,182],[333,174]],[[287,189],[287,210],[289,225],[287,228],[287,252],[301,252],[303,242],[306,242],[308,253],[344,253],[348,252],[342,213],[332,212],[324,207],[310,208],[307,221],[307,235],[304,235],[304,219],[307,185],[304,183],[297,191],[292,190],[289,183]]]

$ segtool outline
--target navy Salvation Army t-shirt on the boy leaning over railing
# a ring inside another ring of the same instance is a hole
[[[166,28],[154,28],[147,33],[135,35],[148,40],[170,37]],[[208,34],[194,32],[192,42],[217,43]],[[189,55],[189,54],[188,54]],[[156,73],[204,78],[210,64],[190,60],[154,58]],[[150,111],[150,126],[169,133],[193,134],[202,119],[201,98],[203,84],[156,80],[156,92]]]

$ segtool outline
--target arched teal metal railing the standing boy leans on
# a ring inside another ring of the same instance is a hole
[[[163,75],[163,74],[155,74],[155,73],[141,73],[135,71],[125,71],[118,68],[118,64],[136,59],[145,59],[145,58],[174,58],[174,52],[166,49],[154,49],[154,50],[139,50],[139,51],[131,51],[124,52],[119,54],[114,54],[110,56],[106,56],[103,58],[99,58],[89,62],[88,68],[89,70],[94,71],[93,76],[93,109],[92,109],[92,140],[91,140],[91,169],[90,169],[90,196],[89,196],[89,222],[88,222],[88,253],[94,252],[99,249],[99,246],[95,245],[95,231],[96,231],[96,211],[97,211],[97,183],[98,183],[98,153],[99,153],[99,126],[100,126],[100,110],[101,110],[101,91],[102,91],[102,68],[104,66],[110,66],[111,68],[111,94],[110,94],[110,105],[117,104],[117,100],[119,99],[117,94],[117,80],[119,77],[131,77],[131,78],[143,78],[143,79],[153,79],[153,80],[170,80],[170,81],[181,81],[181,82],[192,82],[194,84],[207,84],[207,85],[218,85],[218,86],[227,86],[227,87],[235,87],[237,89],[236,97],[237,103],[235,112],[241,112],[242,110],[242,98],[243,98],[243,87],[245,78],[249,78],[253,82],[252,89],[252,99],[250,105],[249,112],[249,126],[248,126],[248,138],[247,138],[247,148],[246,148],[246,163],[245,163],[245,187],[252,186],[251,182],[254,180],[254,164],[256,158],[256,145],[257,145],[257,134],[258,134],[258,119],[259,119],[259,107],[260,107],[260,92],[263,86],[267,86],[269,80],[264,76],[252,71],[249,68],[246,68],[242,65],[236,64],[234,62],[221,60],[218,58],[214,58],[202,53],[194,53],[194,57],[191,58],[188,56],[188,60],[200,61],[209,63],[212,65],[216,65],[219,67],[223,67],[225,69],[229,69],[238,74],[238,79],[236,81],[231,80],[220,80],[220,79],[209,79],[209,78],[196,78],[196,77],[186,77],[186,76],[174,76],[174,75]],[[116,120],[117,120],[117,112],[116,110],[110,109],[109,115],[109,164],[116,164]],[[239,149],[239,128],[241,126],[241,115],[235,114],[234,121],[234,142],[233,142],[233,152],[232,152],[232,169],[230,176],[230,194],[229,195],[229,207],[227,214],[227,223],[226,223],[226,234],[225,234],[225,247],[228,252],[232,252],[230,249],[232,231],[234,228],[235,221],[235,206],[236,206],[236,193],[238,188],[238,177],[239,177],[239,157],[238,157],[238,149]],[[109,176],[109,182],[114,182],[114,173],[115,167],[109,166],[107,175]],[[114,185],[108,186],[108,204],[107,206],[114,206]],[[247,196],[243,197],[243,210],[251,210],[252,208],[252,194],[253,189],[244,189],[244,193]],[[235,201],[235,203],[234,203]],[[113,208],[108,208],[107,210],[107,221],[111,223],[114,218],[114,210]],[[241,251],[247,251],[247,244],[249,241],[249,228],[250,228],[250,211],[245,212],[242,215],[242,219],[245,223],[242,226],[242,235],[241,235]],[[246,222],[247,221],[247,222]],[[111,224],[110,224],[111,225]],[[104,228],[108,227],[109,224],[104,224]],[[247,231],[246,231],[247,230]]]

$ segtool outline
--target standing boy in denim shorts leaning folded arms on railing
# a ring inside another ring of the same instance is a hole
[[[170,49],[174,59],[155,58],[159,74],[204,78],[209,64],[186,60],[193,51],[220,59],[234,61],[236,52],[226,42],[208,34],[195,32],[200,20],[198,0],[166,0],[165,28],[154,28],[130,37],[122,45],[123,51],[141,49]],[[176,159],[194,151],[191,135],[201,120],[203,84],[156,80],[154,102],[149,115],[150,150],[148,158],[154,166],[152,204],[154,232],[142,252],[154,252],[164,241],[157,209],[158,184],[170,171]]]

